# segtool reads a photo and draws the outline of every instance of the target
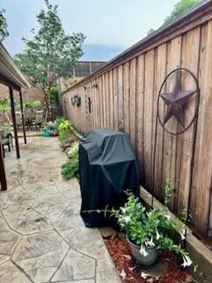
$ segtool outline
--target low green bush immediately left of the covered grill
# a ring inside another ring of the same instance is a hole
[[[68,160],[62,165],[62,176],[64,180],[70,180],[73,177],[79,178],[79,142],[73,143],[68,156]]]

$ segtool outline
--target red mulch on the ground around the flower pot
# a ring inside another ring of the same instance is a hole
[[[186,269],[182,270],[177,259],[168,252],[162,254],[162,260],[167,265],[167,270],[163,274],[163,277],[155,276],[155,278],[148,277],[147,279],[142,279],[140,277],[140,267],[134,262],[131,256],[131,251],[125,237],[111,236],[105,240],[105,243],[117,267],[117,272],[124,274],[124,276],[121,276],[123,283],[191,282],[189,272]],[[142,272],[145,271],[142,270]]]

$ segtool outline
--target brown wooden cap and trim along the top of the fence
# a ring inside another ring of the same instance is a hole
[[[153,46],[162,44],[164,38],[167,39],[169,36],[170,38],[171,36],[177,36],[180,32],[182,34],[182,32],[186,32],[189,28],[191,29],[195,27],[192,23],[196,19],[202,19],[202,22],[204,22],[204,20],[206,21],[208,18],[204,16],[209,13],[212,18],[212,1],[203,0],[200,4],[194,5],[189,11],[182,13],[177,19],[173,19],[167,25],[158,28],[155,33],[146,36],[140,42],[133,44],[132,47],[117,55],[117,57],[112,58],[106,65],[102,66],[102,68],[88,75],[85,79],[75,83],[71,88],[64,90],[62,95],[72,88],[85,84],[87,80],[95,79],[95,77],[111,70],[117,65],[124,64],[130,58],[136,57],[144,51],[146,52],[149,50],[149,47],[152,48]],[[178,30],[179,32],[177,33]]]

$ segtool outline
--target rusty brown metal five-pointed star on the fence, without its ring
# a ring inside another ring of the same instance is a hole
[[[174,116],[178,120],[179,124],[185,128],[184,116],[186,103],[196,91],[196,89],[181,90],[181,76],[180,72],[177,71],[173,91],[160,95],[163,98],[164,103],[167,105],[163,125],[168,122],[172,116]]]

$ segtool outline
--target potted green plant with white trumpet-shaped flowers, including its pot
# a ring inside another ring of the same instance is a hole
[[[125,205],[119,210],[110,210],[110,213],[125,232],[135,260],[144,266],[152,265],[164,249],[181,256],[183,267],[193,264],[186,250],[170,237],[170,233],[175,231],[184,239],[185,226],[178,219],[170,218],[168,208],[147,210],[132,192],[126,194]]]

